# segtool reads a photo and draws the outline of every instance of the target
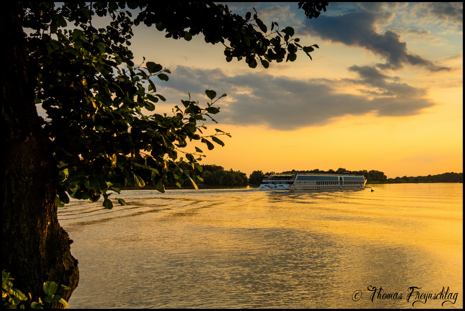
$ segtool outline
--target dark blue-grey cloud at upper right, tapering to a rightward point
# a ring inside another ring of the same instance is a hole
[[[321,39],[363,47],[376,55],[386,58],[385,64],[377,64],[381,69],[399,69],[404,64],[418,65],[430,71],[451,70],[441,67],[431,60],[413,54],[407,50],[407,44],[400,42],[400,36],[387,30],[384,34],[376,32],[378,23],[392,19],[393,13],[358,12],[335,16],[320,16],[307,19],[301,33],[319,36]]]

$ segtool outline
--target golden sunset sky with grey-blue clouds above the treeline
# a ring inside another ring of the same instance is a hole
[[[154,80],[171,112],[180,99],[206,103],[205,90],[227,93],[219,124],[231,133],[204,164],[253,170],[376,169],[393,178],[463,171],[462,3],[332,3],[307,19],[295,3],[227,3],[245,16],[252,6],[269,28],[292,26],[310,60],[251,69],[227,63],[224,46],[166,39],[135,27],[130,49],[171,70]],[[191,148],[193,150],[193,144]]]

